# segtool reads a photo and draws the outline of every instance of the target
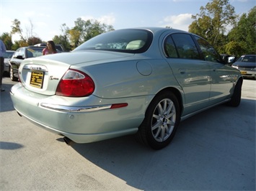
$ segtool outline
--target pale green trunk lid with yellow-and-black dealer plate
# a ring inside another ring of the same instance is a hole
[[[87,51],[26,59],[19,67],[19,80],[27,90],[43,95],[55,95],[59,81],[72,65],[96,65],[102,63],[102,60],[106,62],[127,56],[132,54]]]

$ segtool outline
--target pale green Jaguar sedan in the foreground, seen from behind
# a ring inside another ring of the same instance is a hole
[[[243,78],[225,64],[195,34],[119,29],[70,53],[24,60],[11,97],[20,116],[68,144],[136,134],[162,149],[180,120],[221,103],[239,106]]]

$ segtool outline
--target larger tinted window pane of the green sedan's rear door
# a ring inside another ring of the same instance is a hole
[[[200,59],[198,49],[190,34],[172,34],[180,58]]]

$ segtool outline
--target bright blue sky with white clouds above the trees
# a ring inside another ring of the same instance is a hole
[[[209,1],[198,0],[0,0],[0,35],[11,32],[12,21],[21,22],[24,35],[33,24],[33,35],[43,41],[61,34],[61,25],[74,27],[77,18],[97,19],[114,29],[172,27],[187,31],[191,15]],[[255,0],[229,0],[236,14],[248,13]],[[14,35],[14,39],[19,36]]]

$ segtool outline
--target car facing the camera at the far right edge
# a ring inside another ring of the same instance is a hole
[[[247,78],[256,78],[256,55],[242,55],[232,67],[240,70]]]

